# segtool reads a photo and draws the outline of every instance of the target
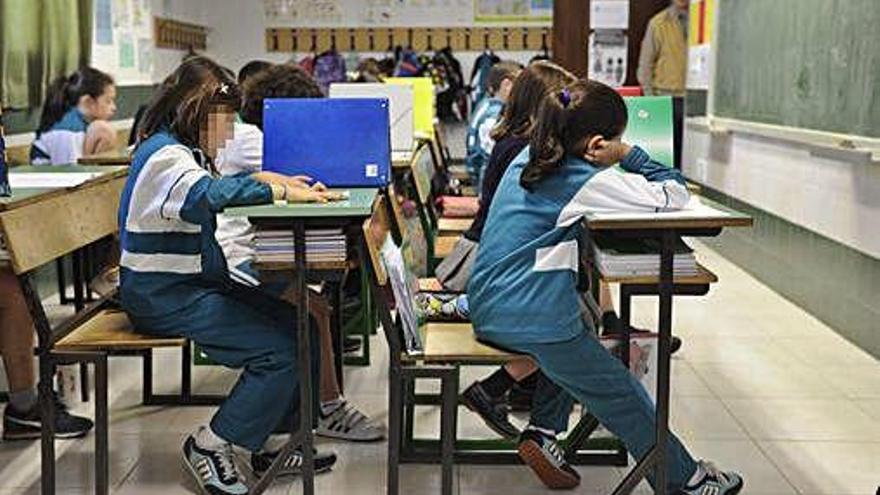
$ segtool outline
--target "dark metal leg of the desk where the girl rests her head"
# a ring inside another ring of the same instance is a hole
[[[675,256],[675,231],[666,230],[662,234],[660,251],[660,352],[657,365],[657,440],[655,444],[656,463],[654,493],[665,494],[667,486],[667,452],[669,443],[669,375],[670,348],[672,340],[672,290],[673,258]]]

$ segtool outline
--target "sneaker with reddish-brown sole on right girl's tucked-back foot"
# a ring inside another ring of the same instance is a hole
[[[581,483],[581,476],[565,460],[556,439],[549,435],[530,429],[524,431],[519,441],[519,458],[547,488],[572,489]]]

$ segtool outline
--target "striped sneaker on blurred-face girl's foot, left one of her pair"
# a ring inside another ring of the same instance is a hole
[[[247,495],[248,488],[239,479],[232,445],[218,450],[203,449],[196,445],[193,435],[183,443],[183,463],[193,475],[202,493],[208,495]]]

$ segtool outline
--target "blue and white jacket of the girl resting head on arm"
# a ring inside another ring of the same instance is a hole
[[[583,333],[576,288],[584,215],[688,202],[681,174],[639,147],[619,168],[566,158],[531,192],[520,185],[528,159],[526,147],[501,179],[468,284],[477,335],[499,344],[563,342]]]

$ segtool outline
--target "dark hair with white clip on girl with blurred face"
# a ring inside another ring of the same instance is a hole
[[[240,105],[241,95],[228,69],[207,57],[188,58],[162,82],[144,110],[138,143],[168,130],[184,145],[198,148],[208,113],[216,108],[237,112]]]

